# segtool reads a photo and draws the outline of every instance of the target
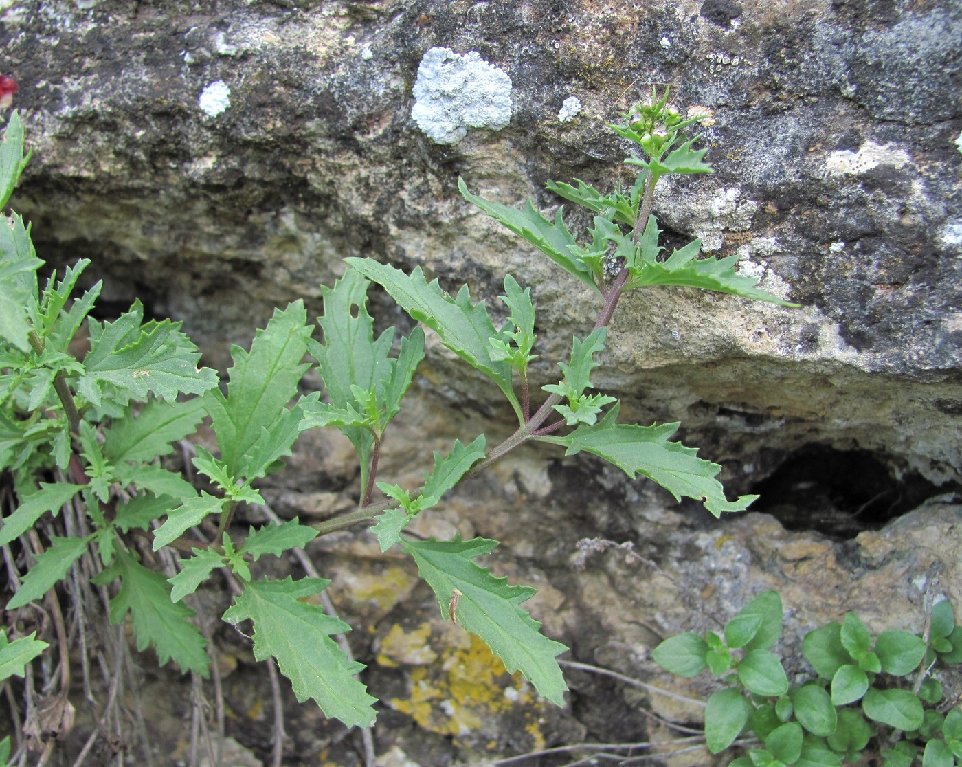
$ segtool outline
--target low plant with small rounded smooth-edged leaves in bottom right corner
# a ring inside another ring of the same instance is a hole
[[[810,631],[802,652],[812,674],[789,684],[771,651],[782,629],[782,601],[766,591],[725,624],[722,634],[686,632],[652,652],[681,677],[710,671],[724,685],[705,706],[712,754],[750,732],[756,747],[735,767],[909,767],[962,764],[962,711],[940,707],[936,663],[962,662],[962,626],[949,601],[931,611],[924,636],[883,631],[874,638],[854,613]]]

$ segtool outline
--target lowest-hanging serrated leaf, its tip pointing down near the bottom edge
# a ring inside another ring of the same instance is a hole
[[[371,704],[377,699],[367,695],[365,686],[354,678],[364,666],[348,660],[330,637],[350,626],[326,615],[316,604],[301,601],[329,583],[322,578],[292,581],[290,577],[252,581],[223,618],[231,624],[253,621],[254,657],[277,658],[298,701],[313,698],[325,715],[347,727],[368,728],[374,724]]]

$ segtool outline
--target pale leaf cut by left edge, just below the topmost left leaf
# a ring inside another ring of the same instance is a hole
[[[37,269],[42,265],[23,218],[0,213],[0,341],[24,353],[31,349],[30,309],[37,304]]]

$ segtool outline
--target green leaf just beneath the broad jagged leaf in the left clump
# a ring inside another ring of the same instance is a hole
[[[104,453],[114,463],[152,461],[172,452],[171,443],[193,434],[204,415],[199,398],[180,402],[152,399],[136,417],[131,413],[104,429]]]

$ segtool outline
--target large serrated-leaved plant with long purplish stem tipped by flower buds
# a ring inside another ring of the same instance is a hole
[[[15,214],[6,218],[7,225],[0,226],[0,468],[12,477],[17,500],[0,528],[0,546],[13,550],[10,577],[18,586],[9,613],[15,616],[31,601],[51,599],[64,578],[87,574],[94,586],[109,589],[111,624],[131,617],[139,649],[150,645],[162,664],[172,660],[182,671],[206,676],[207,639],[184,601],[212,574],[226,571],[239,593],[223,620],[250,622],[255,656],[276,659],[298,700],[313,698],[327,716],[367,728],[374,721],[375,699],[356,677],[363,667],[332,639],[348,626],[315,603],[329,581],[255,578],[250,562],[304,547],[348,525],[373,522],[382,550],[399,546],[413,557],[437,595],[443,618],[456,617],[509,672],[519,670],[544,698],[563,704],[567,687],[556,656],[567,648],[544,637],[540,624],[521,607],[534,590],[509,586],[474,562],[497,542],[420,541],[404,528],[459,481],[530,440],[564,447],[567,454],[594,453],[629,477],[653,479],[675,499],[700,500],[716,517],[741,511],[754,499],[726,499],[716,478],[721,468],[670,441],[677,423],[619,423],[616,398],[595,392],[591,383],[606,325],[628,291],[689,286],[793,305],[738,275],[734,256],[697,258],[698,241],[662,255],[651,215],[656,183],[665,175],[711,172],[703,161],[706,150],[693,148],[695,140],[683,136],[692,122],[678,115],[667,92],[652,92],[623,115],[622,124],[612,126],[641,150],[626,161],[638,168],[630,189],[602,194],[580,181],[548,185],[595,214],[580,242],[561,211],[549,219],[530,202],[521,211],[508,208],[474,196],[459,183],[468,201],[535,245],[601,300],[594,330],[572,340],[570,359],[559,363],[563,377],[541,387],[546,397],[537,408],[528,376],[536,357],[535,310],[530,288],[522,289],[511,275],[499,296],[510,315],[496,327],[484,302],[473,302],[467,287],[452,297],[437,281],[429,283],[420,268],[405,274],[372,259],[347,259],[342,279],[321,289],[323,314],[317,325],[323,340],[312,337],[315,328],[304,305],[294,301],[275,311],[249,350],[232,348],[233,367],[224,386],[215,371],[196,367],[200,353],[180,323],[145,321],[139,303],[113,322],[90,319],[100,283],[75,296],[89,262],[67,268],[40,292],[41,262],[29,229]],[[22,146],[14,113],[0,152],[0,207],[26,165]],[[388,426],[424,356],[424,333],[418,326],[395,344],[391,328],[375,338],[366,308],[371,282],[491,379],[518,418],[515,433],[495,447],[488,447],[482,434],[467,444],[456,441],[446,455],[435,453],[419,488],[378,481],[377,465]],[[75,356],[71,342],[85,320],[89,351]],[[316,362],[305,361],[312,358]],[[319,393],[298,394],[302,376],[315,365],[326,401]],[[167,463],[173,445],[204,419],[213,428],[219,454],[196,447],[192,464],[215,492],[198,491]],[[319,524],[294,519],[246,534],[237,530],[232,520],[238,505],[264,502],[258,481],[278,471],[301,432],[315,427],[338,428],[355,447],[361,465],[357,509]],[[384,499],[375,499],[377,490]],[[208,518],[216,520],[216,532],[205,538],[201,525]],[[151,563],[151,552],[163,555],[170,549],[186,558],[168,562],[176,570],[164,574]]]

